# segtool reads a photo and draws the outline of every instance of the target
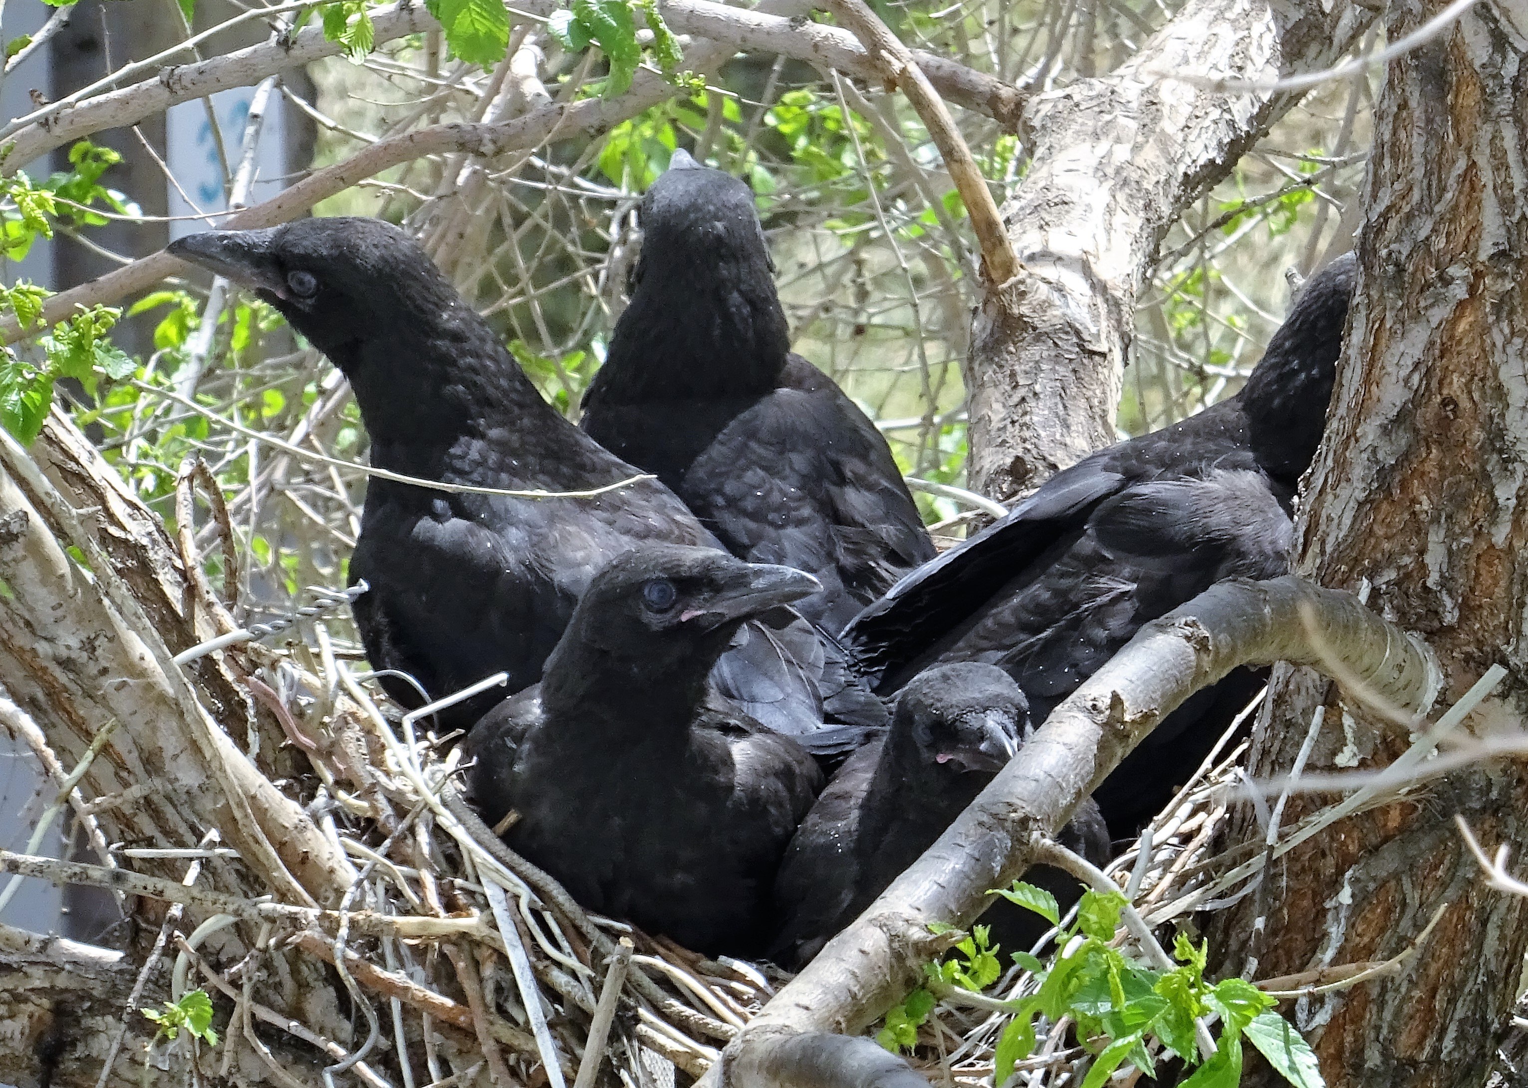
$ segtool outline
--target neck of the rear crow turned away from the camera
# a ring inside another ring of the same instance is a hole
[[[643,278],[616,322],[601,397],[613,405],[750,400],[775,390],[790,353],[785,312],[767,278],[733,280]]]

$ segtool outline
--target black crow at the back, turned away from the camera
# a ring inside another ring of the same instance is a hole
[[[683,151],[642,199],[631,304],[582,426],[656,472],[750,562],[805,570],[839,631],[934,558],[902,472],[833,379],[790,353],[749,186]]]

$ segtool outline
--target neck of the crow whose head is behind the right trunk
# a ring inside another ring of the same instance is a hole
[[[1313,359],[1270,345],[1238,394],[1253,455],[1290,487],[1311,466],[1322,442],[1335,368],[1335,348]]]

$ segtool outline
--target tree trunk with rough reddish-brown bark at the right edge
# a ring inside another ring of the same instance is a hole
[[[1390,41],[1444,8],[1392,3]],[[1516,23],[1513,21],[1516,18]],[[1332,425],[1300,526],[1300,570],[1371,604],[1439,656],[1444,698],[1493,662],[1511,669],[1473,726],[1528,701],[1528,18],[1476,5],[1387,73],[1369,160],[1363,274]],[[1311,769],[1389,763],[1404,740],[1337,709],[1331,685],[1279,669],[1253,740],[1256,776],[1285,773],[1313,711],[1328,729]],[[1343,758],[1345,749],[1348,758]],[[1320,798],[1291,798],[1293,824]],[[1528,946],[1528,905],[1487,891],[1453,827],[1491,851],[1528,847],[1528,769],[1478,766],[1354,816],[1287,854],[1258,894],[1219,915],[1225,973],[1258,978],[1384,960],[1439,908],[1420,954],[1383,980],[1299,1002],[1326,1083],[1479,1085],[1507,1025]],[[1232,842],[1265,831],[1242,813]],[[1273,1083],[1268,1070],[1247,1083]]]

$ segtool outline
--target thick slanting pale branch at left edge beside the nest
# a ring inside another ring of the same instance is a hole
[[[72,429],[57,417],[52,426]],[[0,602],[0,685],[66,763],[78,761],[107,721],[118,723],[90,767],[93,796],[157,785],[144,804],[105,813],[102,822],[116,839],[186,847],[215,827],[255,874],[251,883],[219,866],[231,886],[277,891],[292,903],[338,899],[354,879],[348,860],[211,718],[101,547],[101,536],[113,535],[115,510],[73,507],[8,434],[0,434],[0,578],[11,590]],[[90,463],[72,468],[75,477],[102,475]],[[87,518],[99,518],[104,532],[87,532]],[[89,578],[69,546],[83,553]]]

